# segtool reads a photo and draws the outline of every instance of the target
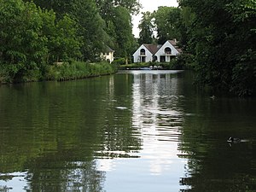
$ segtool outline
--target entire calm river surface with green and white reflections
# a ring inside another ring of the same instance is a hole
[[[0,191],[256,191],[255,99],[192,76],[0,86]]]

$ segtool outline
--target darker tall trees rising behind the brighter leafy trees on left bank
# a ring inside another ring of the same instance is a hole
[[[53,9],[57,18],[69,15],[76,20],[85,61],[99,59],[106,45],[114,49],[118,57],[127,57],[135,49],[131,15],[137,14],[141,7],[137,0],[34,0],[34,3],[44,9]]]

